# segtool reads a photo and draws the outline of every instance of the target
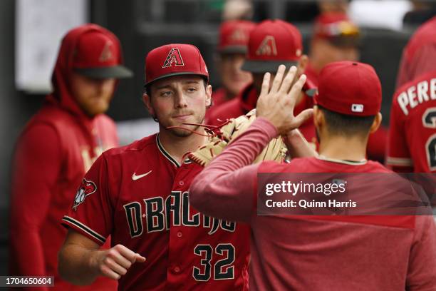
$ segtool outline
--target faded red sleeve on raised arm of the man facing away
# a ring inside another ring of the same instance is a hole
[[[215,218],[249,223],[259,168],[251,163],[276,135],[269,121],[257,118],[194,179],[190,188],[194,208]]]

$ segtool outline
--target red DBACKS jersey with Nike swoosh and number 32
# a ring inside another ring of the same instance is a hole
[[[147,257],[120,290],[247,290],[249,228],[190,207],[202,170],[179,165],[157,135],[103,153],[85,175],[63,224],[102,245],[108,235]]]

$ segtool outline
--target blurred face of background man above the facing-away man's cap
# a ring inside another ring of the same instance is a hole
[[[323,68],[333,61],[358,61],[360,58],[356,46],[334,46],[325,39],[316,39],[311,47],[311,61],[316,68]]]

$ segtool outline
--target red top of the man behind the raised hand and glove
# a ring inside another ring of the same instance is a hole
[[[257,93],[252,84],[247,86],[237,97],[223,103],[221,106],[212,107],[206,123],[212,126],[218,126],[222,121],[226,121],[227,118],[237,118],[238,116],[249,113],[249,111],[256,108],[258,96],[259,93]],[[299,114],[304,109],[312,107],[312,98],[304,95],[303,101],[296,106],[295,113]],[[218,119],[221,121],[218,121]],[[309,143],[316,143],[315,127],[311,119],[306,121],[299,130]]]

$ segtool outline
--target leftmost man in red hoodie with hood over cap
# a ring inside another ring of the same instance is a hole
[[[120,42],[100,26],[78,26],[63,38],[53,93],[16,145],[11,275],[54,276],[54,290],[116,290],[108,279],[84,288],[61,280],[57,252],[66,235],[58,221],[68,211],[78,183],[103,150],[118,146],[115,123],[103,113],[113,96],[115,78],[132,75],[122,63]]]

